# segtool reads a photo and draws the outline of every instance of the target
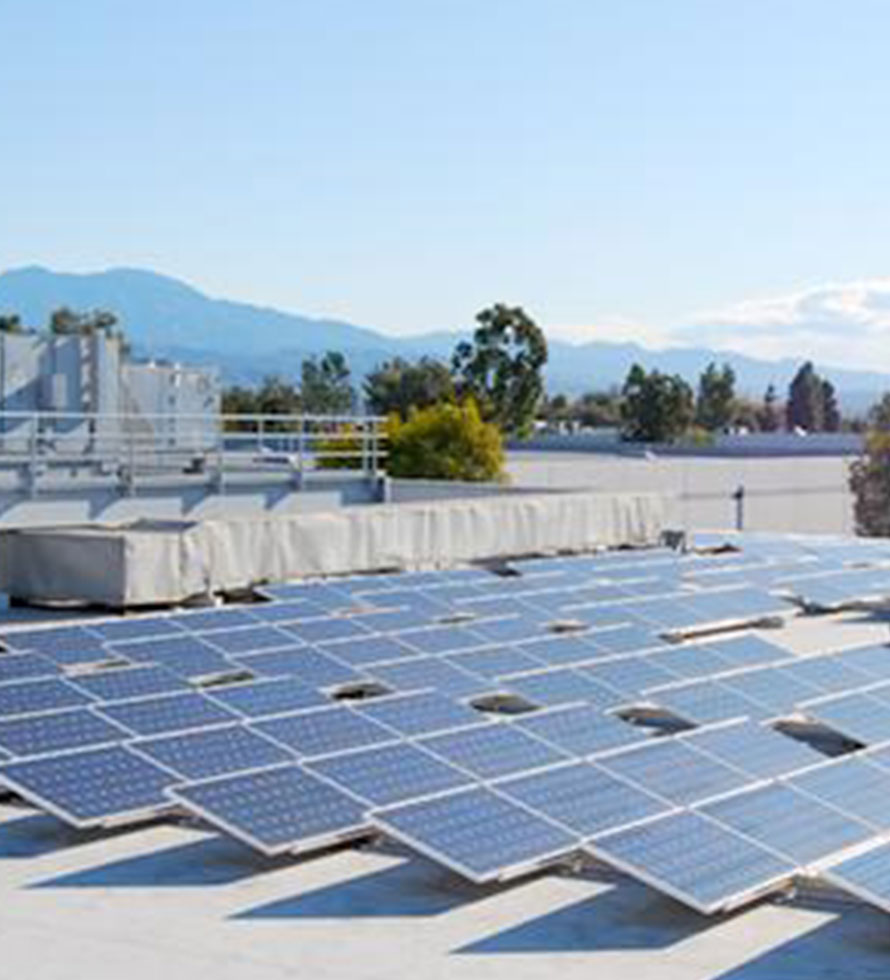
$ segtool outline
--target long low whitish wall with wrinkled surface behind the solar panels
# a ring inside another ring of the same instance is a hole
[[[177,603],[260,582],[650,545],[655,493],[540,493],[201,522],[0,532],[0,589],[26,601]]]

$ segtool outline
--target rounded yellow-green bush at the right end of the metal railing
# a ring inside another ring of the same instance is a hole
[[[480,482],[503,478],[504,447],[496,425],[472,399],[415,409],[406,422],[390,417],[390,476]]]

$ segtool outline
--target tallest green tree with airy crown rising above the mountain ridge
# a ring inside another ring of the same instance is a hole
[[[476,316],[472,341],[457,345],[451,368],[461,397],[503,432],[527,436],[544,393],[547,340],[520,306],[498,303]]]

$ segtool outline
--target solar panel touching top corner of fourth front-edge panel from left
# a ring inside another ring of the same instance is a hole
[[[613,775],[673,803],[689,805],[751,782],[749,776],[676,739],[657,739],[604,757]]]

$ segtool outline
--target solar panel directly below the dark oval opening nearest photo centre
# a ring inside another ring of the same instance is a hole
[[[490,722],[475,728],[432,735],[422,739],[420,744],[446,762],[480,779],[497,779],[553,765],[567,758],[555,747],[506,722]]]

